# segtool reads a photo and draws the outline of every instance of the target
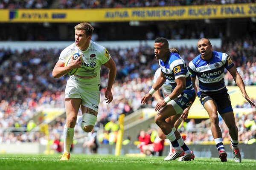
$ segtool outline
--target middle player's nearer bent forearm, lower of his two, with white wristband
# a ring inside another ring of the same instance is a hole
[[[161,108],[167,105],[167,103],[173,99],[175,99],[177,96],[179,96],[184,89],[186,88],[186,78],[180,77],[178,79],[175,79],[176,87],[174,88],[173,92],[167,96],[165,99],[161,100],[157,103],[155,111],[160,111]]]

